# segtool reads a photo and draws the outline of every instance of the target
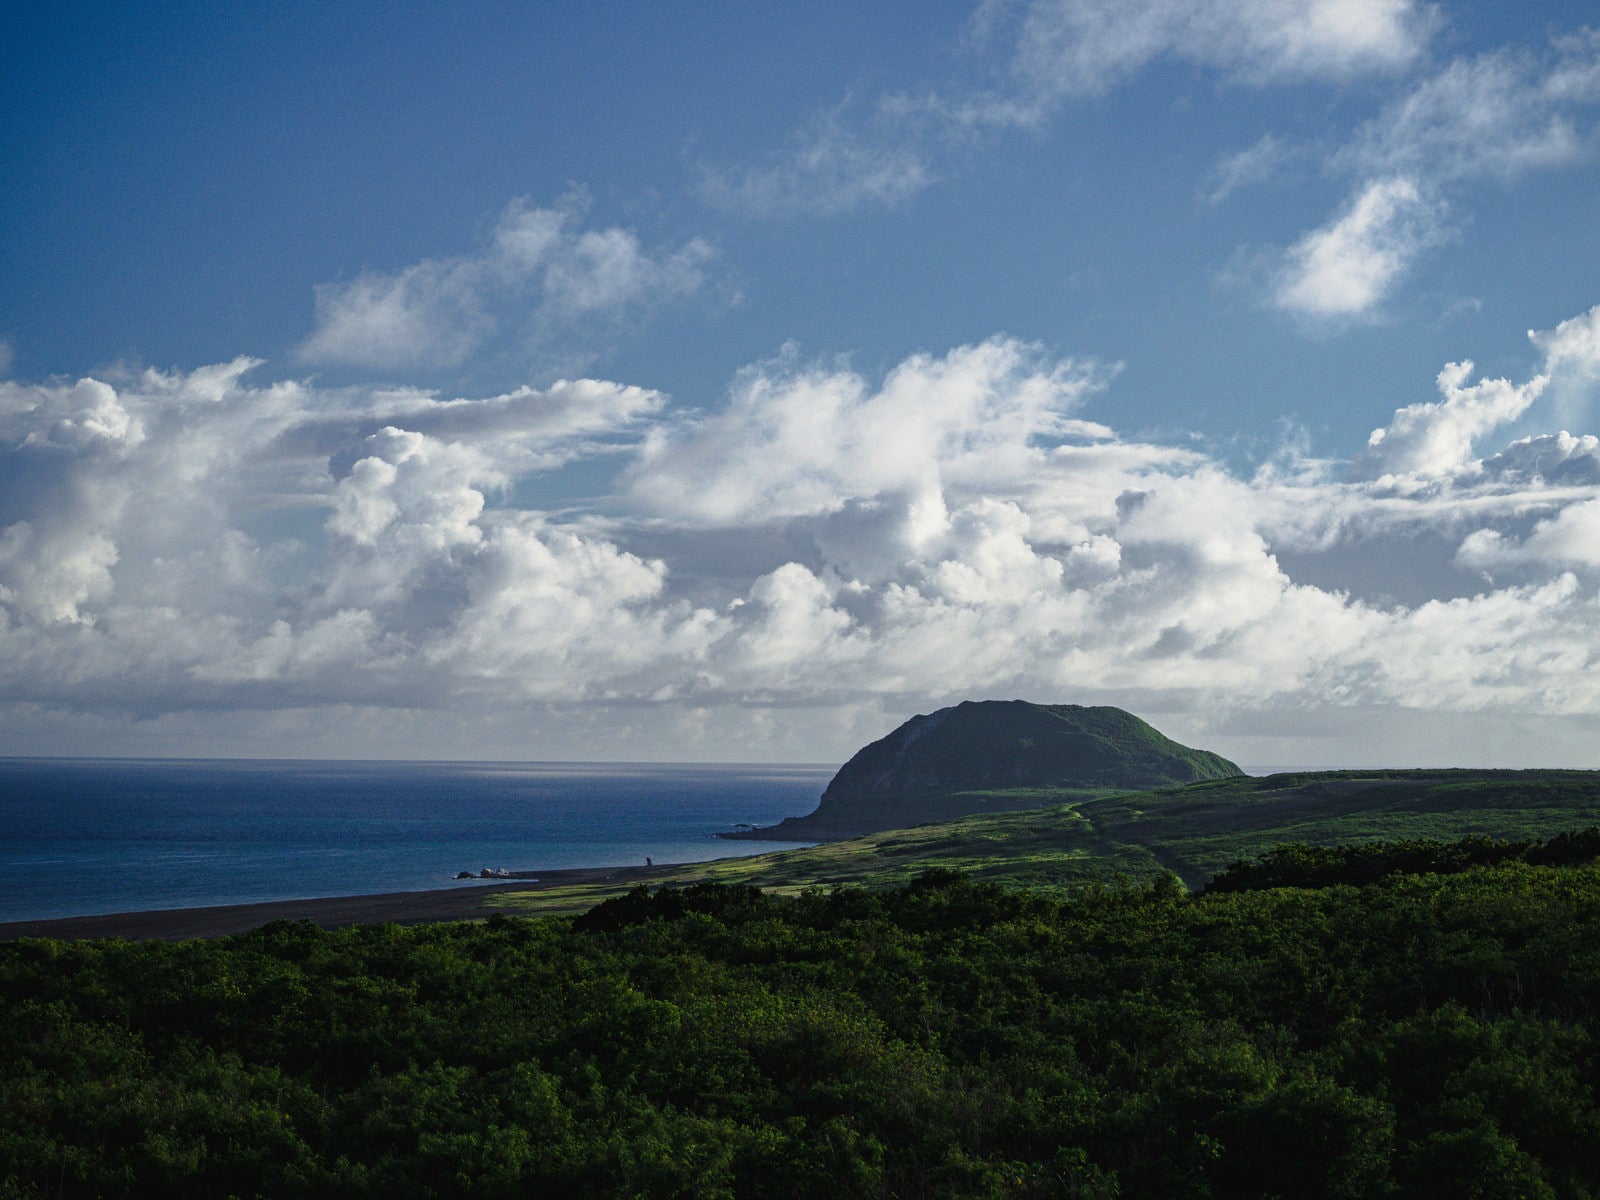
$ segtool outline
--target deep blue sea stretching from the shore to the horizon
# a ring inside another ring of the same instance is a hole
[[[830,766],[0,758],[0,922],[765,853]]]

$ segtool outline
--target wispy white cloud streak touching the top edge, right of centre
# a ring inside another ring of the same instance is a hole
[[[763,163],[707,168],[701,197],[758,216],[896,205],[939,179],[952,146],[1045,125],[1067,102],[1102,94],[1160,59],[1253,86],[1387,74],[1422,53],[1434,13],[1411,0],[994,0],[971,24],[997,85],[944,82],[845,101]],[[1218,182],[1224,192],[1232,186]]]

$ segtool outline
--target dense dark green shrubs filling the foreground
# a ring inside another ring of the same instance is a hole
[[[1483,845],[10,942],[0,1195],[1600,1195],[1600,866]]]

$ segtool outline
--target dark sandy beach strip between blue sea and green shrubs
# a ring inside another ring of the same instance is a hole
[[[675,874],[682,862],[659,862],[650,867],[562,867],[557,870],[518,872],[504,883],[482,883],[470,888],[427,888],[422,891],[387,891],[368,896],[317,896],[310,899],[258,901],[253,904],[216,904],[197,909],[147,909],[142,912],[106,912],[91,917],[46,917],[29,922],[0,922],[0,941],[18,938],[58,938],[83,941],[91,938],[126,938],[130,941],[184,941],[187,938],[227,938],[250,933],[275,920],[309,920],[325,930],[346,925],[419,925],[424,922],[478,920],[504,912],[483,902],[485,896],[507,891],[542,891],[584,883],[646,883]]]

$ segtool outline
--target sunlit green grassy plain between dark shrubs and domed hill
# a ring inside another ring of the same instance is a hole
[[[990,805],[1006,803],[997,792]],[[1021,800],[1021,797],[1018,797]],[[1037,792],[1026,802],[1037,803]],[[1027,811],[894,829],[810,850],[698,862],[656,883],[746,883],[776,893],[906,883],[928,867],[1048,891],[1176,874],[1189,888],[1272,846],[1306,842],[1544,838],[1600,824],[1600,771],[1320,771],[1242,776],[1085,797]],[[506,893],[518,914],[581,912],[629,885]]]

